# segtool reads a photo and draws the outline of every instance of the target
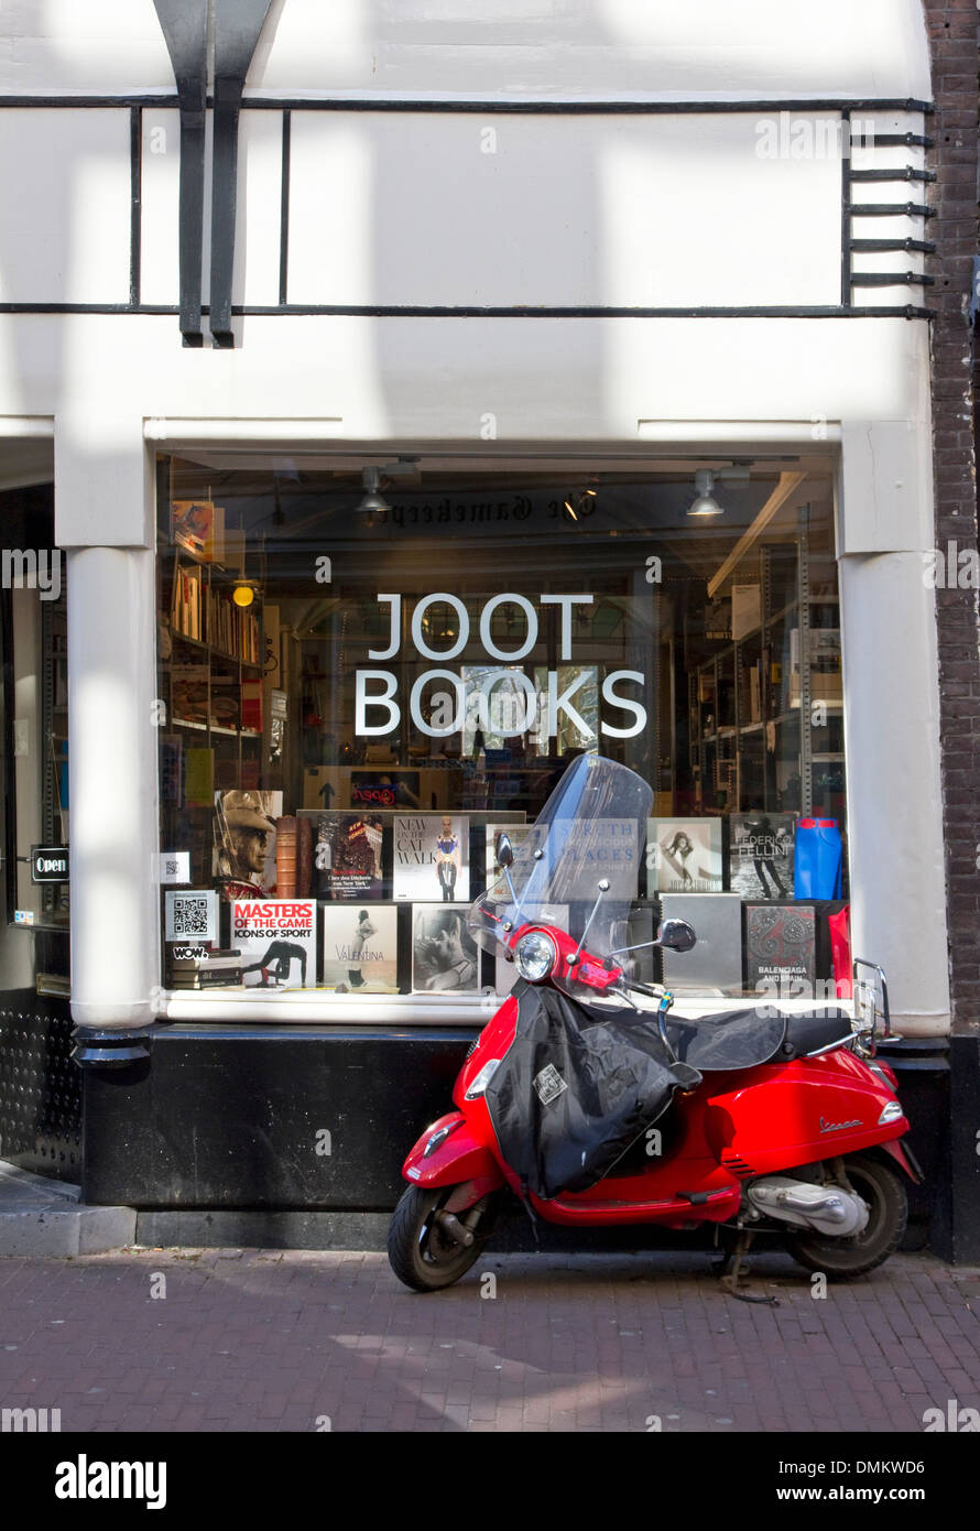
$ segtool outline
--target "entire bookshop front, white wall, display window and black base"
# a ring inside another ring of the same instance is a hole
[[[6,769],[17,854],[70,847],[70,917],[18,868],[5,940],[28,974],[70,919],[87,1199],[208,1242],[384,1214],[507,984],[464,906],[583,749],[654,790],[631,940],[700,900],[689,1009],[836,998],[848,908],[946,1174],[920,6],[519,8],[487,47],[219,3],[207,142],[207,6],[96,9],[110,49],[24,8],[0,75],[8,201],[64,187],[5,236],[11,513],[49,453],[67,592],[61,649],[11,591]]]

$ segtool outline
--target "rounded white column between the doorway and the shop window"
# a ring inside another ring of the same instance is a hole
[[[69,551],[67,634],[72,1017],[145,1026],[159,984],[153,553]]]

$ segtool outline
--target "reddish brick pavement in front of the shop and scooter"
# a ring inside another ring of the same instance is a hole
[[[980,1271],[896,1255],[819,1300],[773,1252],[750,1280],[779,1306],[697,1252],[487,1254],[426,1297],[383,1254],[12,1257],[0,1405],[86,1431],[920,1431],[980,1409]]]

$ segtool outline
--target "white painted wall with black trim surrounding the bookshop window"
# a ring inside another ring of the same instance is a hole
[[[596,449],[649,461],[798,444],[839,465],[854,951],[887,968],[899,1029],[946,1032],[936,619],[923,579],[928,323],[752,317],[841,303],[841,116],[825,103],[853,103],[879,135],[923,132],[916,110],[861,106],[928,101],[919,0],[274,0],[242,112],[236,305],[279,305],[283,113],[248,107],[288,100],[291,305],[752,314],[245,312],[231,351],[182,348],[175,312],[38,311],[129,303],[129,98],[175,93],[150,0],[9,0],[0,34],[0,479],[23,482],[26,444],[54,439],[70,588],[75,1020],[127,1027],[194,1014],[193,998],[178,1009],[159,991],[158,446],[453,446],[482,461]],[[127,101],[3,106],[113,95]],[[322,98],[338,109],[302,106]],[[487,109],[343,109],[394,100]],[[571,101],[678,110],[493,109]],[[786,101],[821,107],[781,118],[766,106]],[[680,110],[692,103],[729,110]],[[141,127],[139,299],[175,306],[175,106],[147,104]],[[851,149],[853,168],[922,165],[917,147]],[[923,201],[923,188],[861,187],[862,202],[910,196]],[[922,237],[906,216],[868,224],[862,233]],[[856,269],[916,271],[917,259],[865,254]],[[204,269],[207,280],[207,237]],[[923,300],[896,286],[858,289],[854,302]],[[323,1020],[314,1000],[273,1003],[280,1018]],[[222,1004],[268,1014],[254,1000]]]

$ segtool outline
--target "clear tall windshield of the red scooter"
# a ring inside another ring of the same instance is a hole
[[[510,946],[525,925],[556,926],[593,957],[628,945],[652,802],[626,766],[600,755],[573,761],[513,865],[472,905],[467,923],[478,945]]]

